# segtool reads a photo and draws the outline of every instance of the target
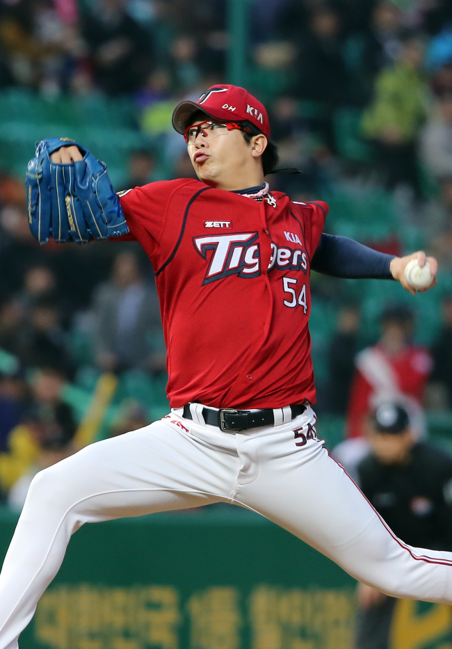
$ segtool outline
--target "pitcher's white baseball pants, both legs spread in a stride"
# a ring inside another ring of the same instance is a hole
[[[452,604],[452,553],[392,534],[309,433],[311,408],[236,434],[203,425],[199,412],[193,422],[174,411],[35,476],[0,575],[0,649],[17,649],[83,523],[213,502],[261,513],[389,595]]]

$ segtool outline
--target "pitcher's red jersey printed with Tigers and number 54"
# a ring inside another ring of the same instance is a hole
[[[309,266],[325,203],[257,202],[192,179],[121,195],[156,276],[172,408],[315,401]]]

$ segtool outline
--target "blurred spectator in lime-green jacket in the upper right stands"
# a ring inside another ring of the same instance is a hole
[[[387,189],[407,184],[417,198],[421,198],[421,187],[416,144],[429,99],[422,64],[422,42],[405,39],[394,65],[378,74],[373,102],[362,119],[364,136],[376,145]]]

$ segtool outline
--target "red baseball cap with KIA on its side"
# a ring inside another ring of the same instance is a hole
[[[208,117],[224,122],[241,122],[249,120],[270,139],[270,124],[267,111],[256,97],[239,86],[211,86],[201,95],[197,102],[188,100],[177,104],[172,113],[172,125],[176,131],[184,135],[190,126],[191,117],[197,111],[206,113]]]

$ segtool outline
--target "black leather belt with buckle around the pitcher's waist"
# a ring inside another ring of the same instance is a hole
[[[296,405],[290,406],[291,419],[298,417],[305,412],[307,406]],[[190,403],[184,406],[185,419],[193,419],[190,411]],[[202,408],[202,417],[204,422],[209,426],[218,426],[221,431],[225,433],[240,433],[241,431],[248,431],[250,428],[258,428],[259,426],[274,426],[275,415],[273,410],[235,410],[234,408],[220,408],[220,410],[211,410],[211,408]]]

